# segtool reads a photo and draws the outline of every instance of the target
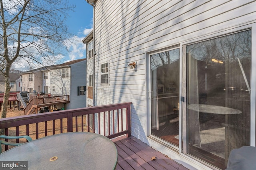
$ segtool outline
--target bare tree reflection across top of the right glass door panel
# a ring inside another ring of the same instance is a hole
[[[200,61],[237,60],[250,56],[251,30],[218,37],[187,46],[187,53]]]

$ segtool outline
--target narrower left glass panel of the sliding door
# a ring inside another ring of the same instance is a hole
[[[150,55],[150,135],[175,146],[179,146],[179,51]]]

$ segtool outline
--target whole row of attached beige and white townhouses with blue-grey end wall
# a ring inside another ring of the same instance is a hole
[[[20,73],[22,91],[50,96],[69,96],[66,104],[55,109],[86,107],[86,59],[46,66]]]

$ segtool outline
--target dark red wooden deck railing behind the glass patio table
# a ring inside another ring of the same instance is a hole
[[[0,129],[5,130],[5,135],[30,135],[32,139],[73,131],[98,133],[109,139],[130,136],[131,104],[125,102],[2,118]]]

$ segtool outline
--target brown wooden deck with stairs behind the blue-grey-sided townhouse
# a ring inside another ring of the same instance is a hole
[[[70,102],[69,95],[51,96],[51,94],[29,95],[29,103],[24,108],[24,114],[35,114],[41,111],[41,108],[54,106],[56,104],[67,104]],[[44,111],[44,110],[42,110]]]

